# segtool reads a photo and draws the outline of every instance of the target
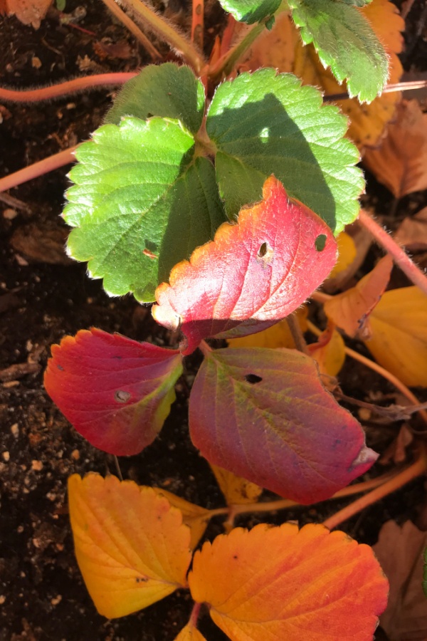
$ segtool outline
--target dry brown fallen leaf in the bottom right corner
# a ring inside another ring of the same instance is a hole
[[[427,602],[423,594],[423,551],[427,532],[411,521],[387,521],[373,547],[390,583],[389,604],[380,618],[391,641],[426,641]]]

